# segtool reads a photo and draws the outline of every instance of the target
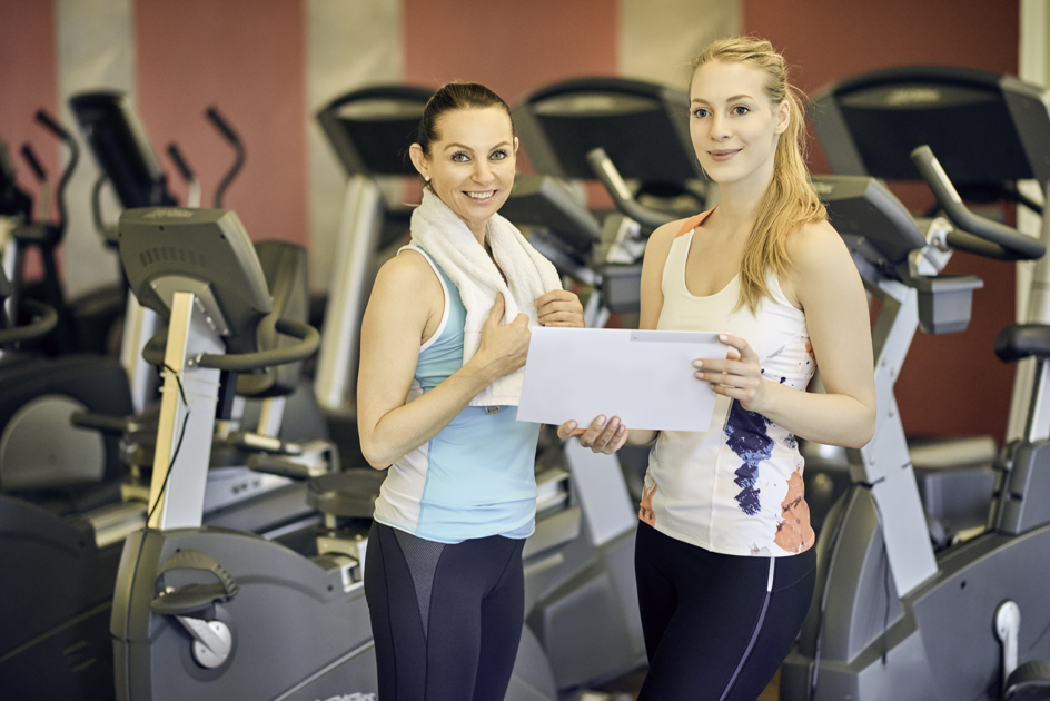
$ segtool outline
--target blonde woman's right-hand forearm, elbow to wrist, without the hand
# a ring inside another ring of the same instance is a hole
[[[874,433],[873,399],[865,403],[846,394],[801,392],[763,382],[767,398],[757,413],[800,438],[859,448],[866,445]]]

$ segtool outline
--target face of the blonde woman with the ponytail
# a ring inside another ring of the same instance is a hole
[[[776,141],[789,107],[765,91],[765,73],[736,61],[713,60],[693,71],[690,136],[701,166],[726,187],[764,191],[773,177]]]

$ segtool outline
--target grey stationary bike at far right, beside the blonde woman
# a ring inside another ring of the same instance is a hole
[[[1039,443],[1021,441],[999,465],[988,530],[934,555],[892,393],[917,326],[964,327],[969,295],[980,285],[971,276],[930,275],[924,259],[951,248],[1033,259],[1046,249],[964,209],[928,147],[912,157],[950,223],[912,219],[875,180],[860,206],[834,198],[836,181],[853,178],[819,180],[832,224],[882,299],[873,332],[879,415],[871,443],[850,451],[854,486],[829,512],[818,541],[818,590],[783,667],[782,699],[975,700],[1050,691],[1050,667],[1041,661],[1050,658],[1042,634],[1050,622],[1043,591],[1050,509],[1040,494],[1048,470]],[[1032,337],[1039,336],[1008,334],[1006,353],[1042,357]],[[1037,397],[1044,391],[1038,387]]]

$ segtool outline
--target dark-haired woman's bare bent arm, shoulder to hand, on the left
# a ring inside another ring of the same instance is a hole
[[[501,326],[504,302],[497,296],[474,357],[406,404],[427,323],[443,308],[440,283],[419,255],[402,254],[380,268],[361,322],[357,381],[361,452],[377,470],[433,438],[477,393],[525,364],[528,317]]]

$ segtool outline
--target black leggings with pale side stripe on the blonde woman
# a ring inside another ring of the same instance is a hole
[[[802,628],[816,554],[721,555],[638,523],[634,569],[650,669],[638,701],[754,701]]]

